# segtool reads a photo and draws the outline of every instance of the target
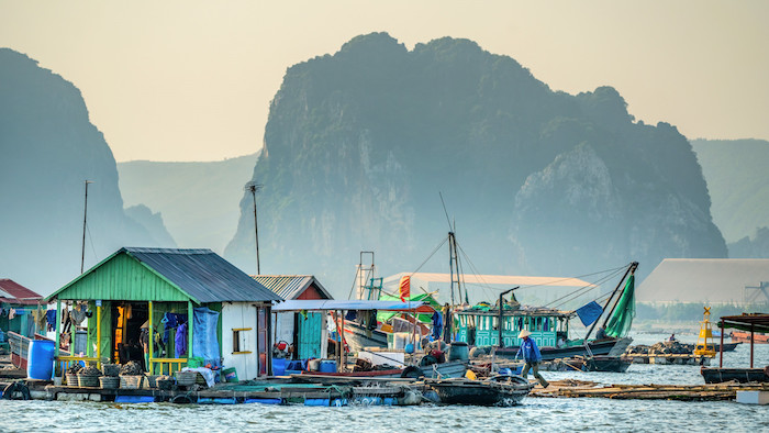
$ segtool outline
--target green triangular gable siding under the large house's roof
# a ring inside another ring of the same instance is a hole
[[[189,297],[126,254],[118,254],[65,288],[62,300],[188,301]]]

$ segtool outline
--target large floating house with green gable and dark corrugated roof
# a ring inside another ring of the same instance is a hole
[[[153,374],[192,360],[235,367],[243,379],[271,374],[270,310],[282,299],[210,249],[124,247],[47,299],[57,311],[86,311],[86,360],[148,362]],[[59,356],[62,321],[56,327],[57,359],[83,359]],[[142,327],[153,335],[146,360]]]

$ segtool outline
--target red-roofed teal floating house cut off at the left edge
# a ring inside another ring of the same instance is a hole
[[[35,326],[34,311],[43,297],[26,287],[8,278],[0,279],[0,330],[3,338],[8,340],[8,332],[15,332],[23,336],[33,336],[37,331]],[[42,308],[42,312],[45,309]],[[0,341],[0,343],[2,342]]]

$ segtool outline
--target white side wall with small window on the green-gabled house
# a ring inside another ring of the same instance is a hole
[[[233,353],[234,330],[239,348]],[[235,367],[239,380],[255,379],[258,375],[256,346],[256,307],[248,302],[224,302],[222,304],[222,358],[224,368]]]

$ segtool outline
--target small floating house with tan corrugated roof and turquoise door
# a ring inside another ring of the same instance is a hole
[[[256,281],[286,300],[334,299],[312,275],[257,275]],[[328,327],[325,311],[276,312],[275,342],[294,347],[294,359],[325,358]]]

